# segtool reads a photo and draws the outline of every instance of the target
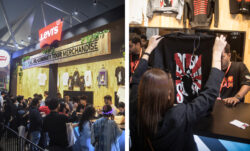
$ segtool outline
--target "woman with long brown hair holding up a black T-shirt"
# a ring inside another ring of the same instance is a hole
[[[158,39],[158,40],[157,40]],[[130,94],[131,150],[196,151],[192,124],[206,115],[219,94],[224,76],[221,54],[225,37],[217,37],[213,46],[212,69],[208,81],[192,103],[174,104],[174,85],[170,73],[148,69],[149,54],[162,38],[153,36],[135,71]],[[139,85],[139,87],[138,87]],[[138,89],[137,89],[138,88]]]

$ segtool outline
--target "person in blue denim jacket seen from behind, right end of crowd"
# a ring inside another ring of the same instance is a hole
[[[103,106],[103,117],[96,120],[91,129],[91,144],[95,151],[119,151],[119,137],[122,131],[115,123],[112,107]]]

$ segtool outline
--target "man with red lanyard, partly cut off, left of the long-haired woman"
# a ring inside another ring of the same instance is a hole
[[[142,57],[141,38],[139,35],[132,33],[129,35],[129,77],[131,78],[135,69],[139,65]]]

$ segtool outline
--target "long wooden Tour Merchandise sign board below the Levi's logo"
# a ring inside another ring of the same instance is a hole
[[[111,54],[111,34],[109,30],[97,32],[74,43],[51,49],[48,53],[30,56],[22,62],[22,66],[23,69],[27,69],[106,54]]]

